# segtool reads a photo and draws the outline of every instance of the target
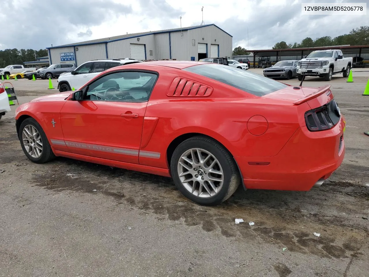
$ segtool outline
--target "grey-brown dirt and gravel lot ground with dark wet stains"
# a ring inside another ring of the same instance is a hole
[[[169,178],[31,163],[12,106],[0,120],[0,276],[368,276],[368,74],[304,82],[330,83],[347,120],[344,162],[321,188],[239,188],[217,207],[193,204]],[[46,80],[12,83],[20,103],[57,92]]]

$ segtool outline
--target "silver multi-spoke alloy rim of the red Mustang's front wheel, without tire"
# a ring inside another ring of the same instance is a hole
[[[22,141],[25,150],[32,158],[39,158],[42,154],[42,139],[33,125],[26,125],[22,132]]]

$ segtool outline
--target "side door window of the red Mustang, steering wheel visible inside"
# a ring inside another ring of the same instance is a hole
[[[92,82],[85,100],[113,102],[146,102],[158,76],[147,72],[115,72]]]

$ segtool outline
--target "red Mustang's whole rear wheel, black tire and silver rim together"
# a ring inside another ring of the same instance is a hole
[[[175,149],[170,162],[180,192],[201,205],[217,205],[237,189],[240,177],[231,155],[207,137],[192,137]]]

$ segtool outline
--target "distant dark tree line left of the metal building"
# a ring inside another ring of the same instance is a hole
[[[35,61],[35,55],[37,58],[45,57],[48,55],[46,49],[5,49],[0,50],[0,68],[4,68],[7,65],[23,64],[23,62]]]

